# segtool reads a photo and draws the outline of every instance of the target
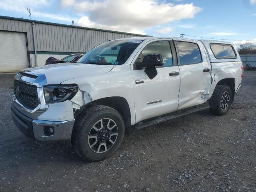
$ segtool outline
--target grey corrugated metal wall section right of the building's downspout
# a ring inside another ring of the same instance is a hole
[[[127,34],[35,24],[38,51],[88,52],[108,40],[133,37]]]

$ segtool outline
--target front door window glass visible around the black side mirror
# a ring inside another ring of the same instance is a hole
[[[158,41],[148,44],[141,52],[141,57],[139,56],[138,59],[140,59],[142,62],[144,56],[147,56],[148,54],[160,54],[162,55],[162,58],[164,60],[163,66],[173,66],[172,63],[172,52],[170,43],[168,41]],[[137,62],[139,62],[137,60]]]

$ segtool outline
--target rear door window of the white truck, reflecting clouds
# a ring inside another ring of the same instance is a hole
[[[196,64],[202,62],[201,53],[196,43],[177,41],[180,64]]]

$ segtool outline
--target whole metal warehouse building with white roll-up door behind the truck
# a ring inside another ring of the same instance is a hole
[[[0,16],[0,72],[45,64],[48,57],[85,53],[108,40],[145,36]]]

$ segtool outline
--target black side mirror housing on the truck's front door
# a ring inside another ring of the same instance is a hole
[[[144,56],[142,62],[137,62],[136,66],[137,68],[151,68],[156,66],[162,66],[164,64],[162,55],[160,54],[148,54],[147,56]]]

